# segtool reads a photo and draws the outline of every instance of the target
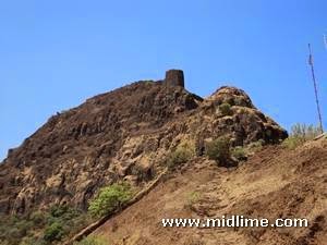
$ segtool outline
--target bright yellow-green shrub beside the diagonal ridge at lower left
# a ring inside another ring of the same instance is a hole
[[[89,203],[88,211],[93,217],[102,217],[119,209],[131,197],[130,185],[116,183],[99,191],[98,195]]]

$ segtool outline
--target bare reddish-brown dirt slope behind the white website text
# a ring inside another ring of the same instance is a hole
[[[235,169],[196,158],[94,234],[108,245],[326,245],[327,139],[268,146]],[[195,195],[196,193],[196,195]],[[193,196],[193,197],[192,197]],[[194,198],[196,196],[196,198]],[[308,228],[162,228],[162,218],[307,218]]]

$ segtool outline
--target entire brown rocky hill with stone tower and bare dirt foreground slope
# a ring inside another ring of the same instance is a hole
[[[0,244],[70,241],[94,221],[86,210],[100,187],[123,181],[142,198],[136,195],[125,211],[92,229],[114,244],[323,245],[325,145],[284,150],[279,143],[288,133],[242,89],[223,86],[202,98],[184,84],[183,72],[170,70],[162,81],[140,81],[95,96],[51,117],[10,149],[0,163]],[[221,138],[232,157],[218,166],[208,159],[208,148]],[[177,152],[186,152],[187,159],[172,167],[172,157],[179,163],[185,157]],[[159,184],[148,189],[153,183]],[[201,195],[187,205],[187,193]],[[164,213],[211,217],[222,211],[308,216],[314,224],[296,234],[199,230],[194,236],[189,230],[158,228]],[[265,237],[279,243],[261,243]]]

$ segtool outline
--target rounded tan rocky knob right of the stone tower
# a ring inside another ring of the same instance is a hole
[[[222,105],[230,108],[230,113],[222,110]],[[207,137],[213,132],[229,134],[235,146],[261,139],[274,144],[288,137],[287,131],[257,110],[242,89],[223,86],[205,99],[202,108],[202,113],[211,119],[210,130],[203,132]]]

